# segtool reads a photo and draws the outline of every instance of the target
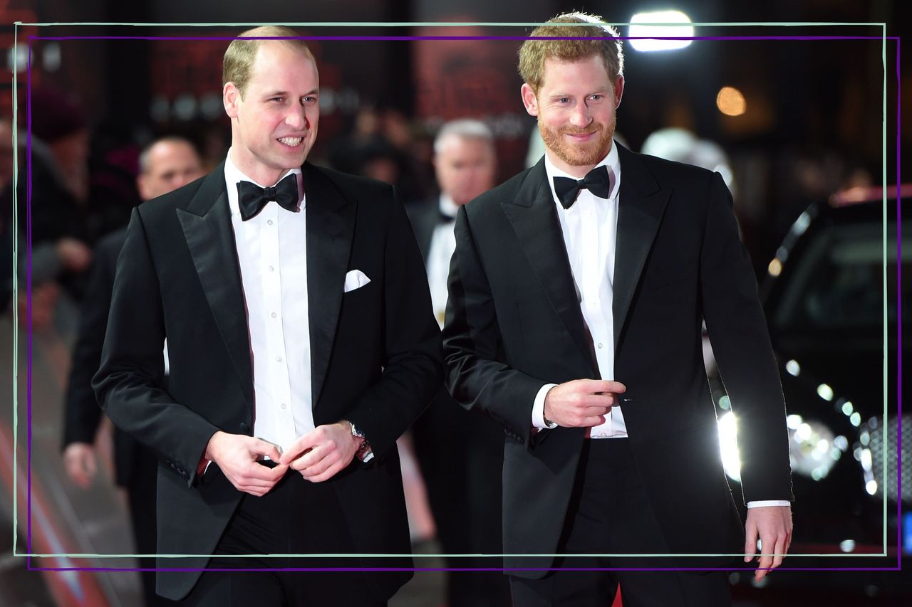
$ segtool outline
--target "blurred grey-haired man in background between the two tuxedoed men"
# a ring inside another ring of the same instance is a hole
[[[456,211],[494,185],[497,157],[491,130],[478,120],[446,123],[434,140],[433,163],[440,196],[409,212],[428,270],[434,314],[442,326]],[[411,435],[442,550],[503,553],[503,429],[487,416],[466,411],[441,389]],[[503,560],[451,558],[448,566],[502,567]],[[509,586],[499,571],[450,572],[447,598],[451,607],[510,603]]]

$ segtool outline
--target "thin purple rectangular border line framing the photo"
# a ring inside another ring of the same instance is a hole
[[[217,25],[217,24],[213,24]],[[26,495],[26,548],[32,552],[32,41],[33,40],[233,40],[237,36],[28,36],[27,90],[26,90],[26,419],[27,419],[27,495]],[[560,39],[597,39],[582,36],[548,36]],[[416,40],[529,40],[532,36],[295,36],[303,40],[326,41],[416,41]],[[900,124],[902,118],[899,36],[617,36],[620,40],[896,40],[896,284],[901,285],[901,223],[900,197]],[[896,567],[779,567],[779,571],[901,571],[902,570],[902,289],[896,289]],[[55,558],[55,557],[47,557]],[[78,557],[71,557],[78,558]],[[113,568],[113,567],[33,567],[32,557],[26,556],[27,571],[756,571],[756,567],[632,567],[632,568],[454,568],[454,567],[301,567],[262,569],[215,568]]]

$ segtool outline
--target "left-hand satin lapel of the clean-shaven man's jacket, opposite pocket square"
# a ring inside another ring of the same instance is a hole
[[[224,163],[202,182],[186,210],[177,210],[202,291],[222,334],[244,396],[254,405],[254,376],[241,269],[225,191]]]

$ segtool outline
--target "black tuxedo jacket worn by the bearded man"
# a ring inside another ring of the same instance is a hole
[[[630,447],[672,553],[737,552],[743,528],[720,463],[704,318],[741,427],[744,499],[792,493],[782,388],[731,194],[717,173],[618,151],[615,378],[632,399]],[[546,383],[598,375],[544,159],[460,210],[449,289],[451,393],[506,429],[504,552],[553,554],[585,432],[534,434],[534,397]]]

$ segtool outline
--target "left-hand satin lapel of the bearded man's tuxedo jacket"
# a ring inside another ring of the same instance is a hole
[[[554,312],[589,365],[589,376],[594,377],[596,371],[589,336],[579,309],[564,234],[544,172],[544,158],[526,175],[515,200],[502,201],[501,206],[513,224],[526,259],[547,293]]]

